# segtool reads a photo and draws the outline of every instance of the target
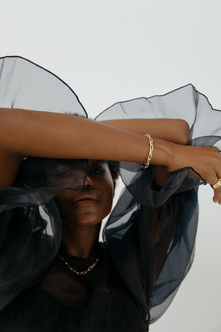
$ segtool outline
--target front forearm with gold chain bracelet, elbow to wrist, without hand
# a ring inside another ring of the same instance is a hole
[[[154,138],[151,164],[166,167],[173,144]],[[149,140],[141,134],[78,116],[0,109],[0,147],[24,157],[146,162]]]

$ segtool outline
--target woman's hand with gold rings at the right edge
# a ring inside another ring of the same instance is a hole
[[[207,183],[214,185],[221,178],[221,153],[215,146],[177,144],[166,169],[172,172],[187,166],[193,167]],[[213,190],[213,202],[221,204],[221,186]]]

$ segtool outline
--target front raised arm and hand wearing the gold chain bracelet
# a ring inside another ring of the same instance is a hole
[[[151,164],[163,166],[168,172],[193,167],[209,184],[215,184],[221,178],[218,148],[186,146],[152,138],[154,152]],[[145,163],[149,141],[143,134],[74,115],[1,108],[0,149],[12,159],[34,156]],[[5,171],[4,167],[3,161],[1,173]],[[214,189],[214,192],[214,200],[220,200],[221,188]]]

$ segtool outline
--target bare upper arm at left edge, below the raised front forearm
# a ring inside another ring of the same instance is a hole
[[[22,160],[21,155],[0,150],[0,189],[13,184]]]

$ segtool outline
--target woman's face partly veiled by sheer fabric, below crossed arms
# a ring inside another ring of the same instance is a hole
[[[89,173],[84,188],[66,189],[56,196],[60,216],[65,223],[78,226],[94,225],[101,222],[111,210],[115,181],[112,179],[109,166],[107,163],[92,159],[89,159],[88,164]],[[46,170],[46,180],[56,185],[54,181],[51,182],[52,176],[50,169]],[[93,200],[88,200],[87,194],[92,195],[89,198]],[[79,199],[80,201],[75,202]]]

